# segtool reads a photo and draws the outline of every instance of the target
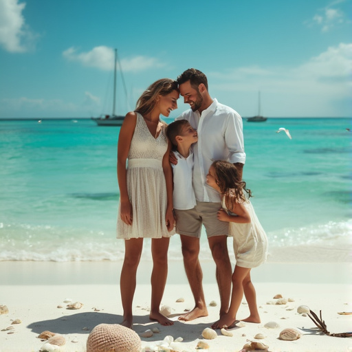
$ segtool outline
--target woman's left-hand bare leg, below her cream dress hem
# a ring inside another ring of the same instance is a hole
[[[135,277],[142,254],[143,239],[125,240],[124,248],[124,263],[120,276],[121,300],[122,308],[124,309],[124,320],[121,325],[131,329],[133,322],[132,303],[135,294]]]

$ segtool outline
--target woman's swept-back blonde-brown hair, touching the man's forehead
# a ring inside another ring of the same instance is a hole
[[[177,82],[170,78],[162,78],[152,83],[137,100],[135,112],[142,116],[148,115],[157,102],[158,96],[167,96],[172,91],[179,91]]]

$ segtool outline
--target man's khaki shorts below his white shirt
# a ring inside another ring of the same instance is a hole
[[[176,232],[186,236],[201,236],[201,225],[206,228],[207,237],[228,235],[228,222],[217,219],[217,211],[221,203],[197,201],[197,206],[192,209],[175,209]]]

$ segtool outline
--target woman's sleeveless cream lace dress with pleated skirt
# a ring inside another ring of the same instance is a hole
[[[168,147],[166,126],[162,126],[162,131],[155,138],[142,115],[137,113],[127,162],[127,192],[132,204],[133,221],[132,225],[127,225],[121,220],[119,203],[118,239],[159,239],[175,233],[173,230],[168,232],[165,222],[167,195],[162,158]]]

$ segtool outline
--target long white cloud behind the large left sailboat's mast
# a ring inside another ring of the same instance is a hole
[[[63,52],[63,56],[70,61],[78,61],[88,67],[111,70],[114,65],[114,50],[111,47],[94,47],[90,52],[78,53],[76,48],[70,47]],[[141,72],[154,67],[162,67],[157,58],[148,56],[135,56],[120,60],[124,72]]]

